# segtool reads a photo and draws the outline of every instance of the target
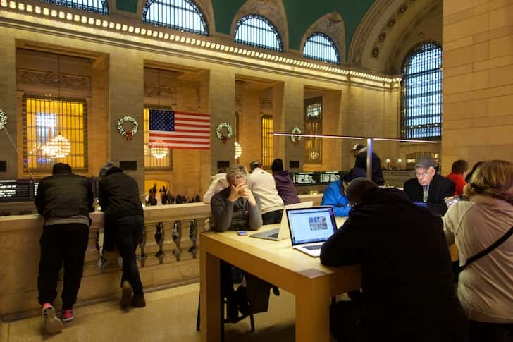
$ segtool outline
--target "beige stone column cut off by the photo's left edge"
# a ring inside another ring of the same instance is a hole
[[[0,130],[0,161],[7,162],[7,172],[0,172],[0,178],[18,178],[18,163],[23,159],[23,151],[20,148],[20,159],[16,150],[8,138],[8,134],[16,144],[16,42],[13,37],[4,36],[4,29],[0,30],[0,109],[8,117],[8,123],[4,130]],[[8,134],[7,134],[8,133]]]

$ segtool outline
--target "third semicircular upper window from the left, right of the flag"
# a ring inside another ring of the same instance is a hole
[[[261,49],[283,51],[281,39],[273,24],[257,14],[240,18],[235,28],[235,42]]]

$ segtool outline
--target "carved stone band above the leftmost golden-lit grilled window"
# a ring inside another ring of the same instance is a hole
[[[18,83],[28,85],[48,85],[50,87],[64,87],[82,90],[91,89],[91,78],[88,76],[21,68],[18,69]]]

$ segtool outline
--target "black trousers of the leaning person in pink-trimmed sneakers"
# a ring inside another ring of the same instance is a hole
[[[64,263],[62,307],[63,310],[73,307],[82,280],[88,241],[89,227],[85,224],[55,224],[43,227],[39,240],[41,260],[37,277],[39,304],[54,303],[57,297],[58,271]]]

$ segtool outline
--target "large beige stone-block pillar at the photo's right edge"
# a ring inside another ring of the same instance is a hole
[[[443,174],[452,162],[513,161],[513,6],[443,1]]]

